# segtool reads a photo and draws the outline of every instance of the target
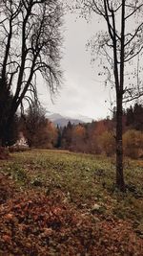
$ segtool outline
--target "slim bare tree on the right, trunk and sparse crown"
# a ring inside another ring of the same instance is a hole
[[[106,57],[102,61],[116,94],[116,186],[125,190],[123,174],[122,116],[124,101],[143,95],[139,74],[139,56],[143,49],[143,2],[142,0],[77,0],[76,10],[82,15],[98,14],[103,18],[106,30],[92,40],[92,52]],[[104,28],[105,29],[105,28]],[[137,67],[134,67],[134,63]],[[110,65],[109,65],[110,64]],[[128,79],[127,79],[128,78]]]

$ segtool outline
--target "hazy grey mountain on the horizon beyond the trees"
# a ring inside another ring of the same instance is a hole
[[[60,127],[65,127],[67,126],[68,122],[70,121],[74,125],[78,125],[79,123],[89,123],[92,122],[91,118],[80,116],[81,119],[79,118],[72,118],[72,117],[64,117],[58,113],[54,113],[48,116],[48,118],[51,120],[51,122],[55,126],[60,126]]]

